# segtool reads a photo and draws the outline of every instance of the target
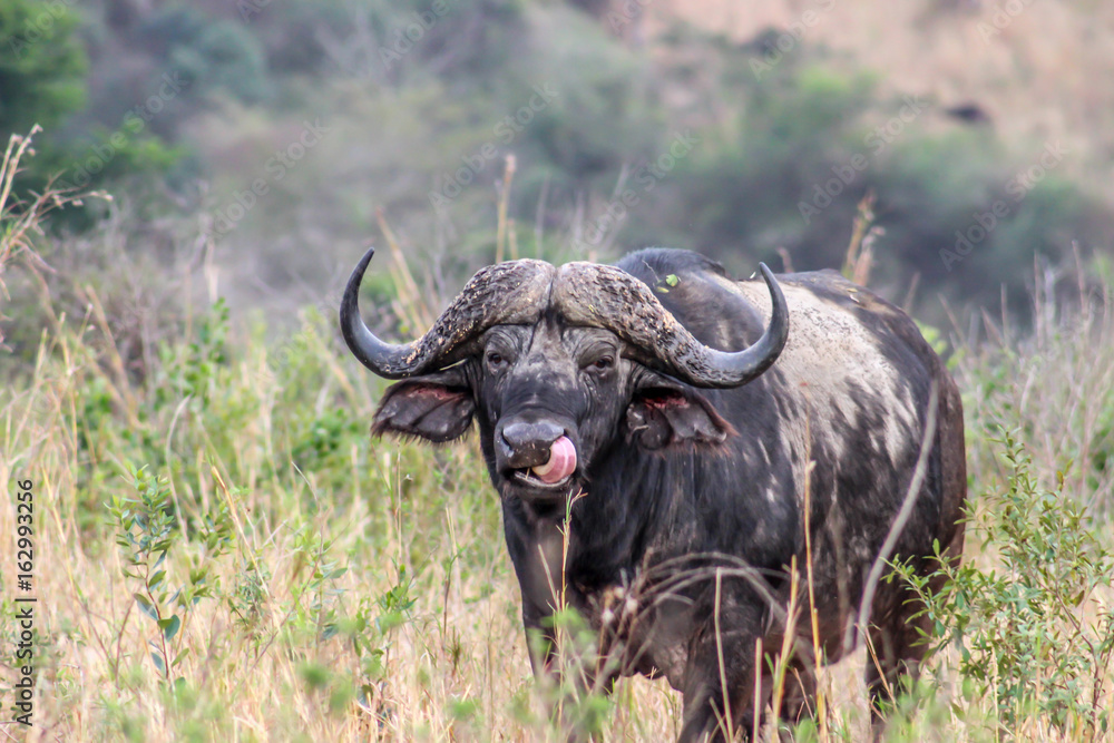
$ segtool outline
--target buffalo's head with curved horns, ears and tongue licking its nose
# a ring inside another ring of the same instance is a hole
[[[765,371],[789,334],[773,275],[762,338],[737,352],[700,343],[645,283],[614,266],[512,261],[480,270],[417,341],[381,341],[360,316],[360,261],[341,303],[352,353],[387,379],[372,430],[433,442],[475,419],[500,493],[555,504],[620,440],[645,449],[716,446],[734,431],[693,388],[734,388]]]

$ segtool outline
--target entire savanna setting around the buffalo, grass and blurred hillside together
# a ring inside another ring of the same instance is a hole
[[[1108,4],[0,0],[0,741],[676,734],[534,680],[475,438],[369,436],[369,242],[384,338],[509,257],[842,264],[967,421],[889,740],[1114,741]],[[781,732],[868,740],[869,662]]]

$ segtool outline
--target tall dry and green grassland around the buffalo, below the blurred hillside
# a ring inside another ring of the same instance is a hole
[[[9,280],[45,271],[46,206],[22,208]],[[393,311],[427,322],[433,291],[401,252],[388,264]],[[944,642],[920,685],[895,690],[889,740],[1111,735],[1114,320],[1105,284],[1063,277],[1074,292],[1037,293],[1032,329],[925,327],[964,391],[971,524],[929,604]],[[334,307],[276,339],[211,296],[144,345],[94,285],[72,291],[79,317],[40,294],[33,361],[0,391],[4,707],[13,598],[38,599],[35,726],[4,740],[560,740],[554,703],[604,740],[676,733],[663,681],[604,698],[532,680],[475,440],[371,440],[382,383],[342,348]],[[30,592],[11,583],[17,488],[33,495]],[[563,663],[590,659],[576,617],[559,626]],[[864,740],[863,662],[824,672],[797,740]]]

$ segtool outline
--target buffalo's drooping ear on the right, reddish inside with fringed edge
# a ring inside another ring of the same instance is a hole
[[[626,422],[638,443],[651,450],[686,444],[716,447],[735,434],[704,395],[668,383],[638,390],[627,407]]]

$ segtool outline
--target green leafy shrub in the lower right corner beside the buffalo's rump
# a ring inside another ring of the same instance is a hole
[[[940,638],[932,651],[958,649],[960,677],[974,684],[974,700],[989,696],[1004,732],[1037,716],[1063,735],[1106,734],[1114,607],[1096,592],[1110,586],[1114,553],[1065,496],[1064,472],[1055,489],[1043,489],[1016,439],[998,443],[1008,479],[983,496],[967,531],[997,553],[994,564],[968,560],[927,577],[903,566],[898,574],[926,604]],[[938,576],[947,585],[932,596],[926,587]]]

